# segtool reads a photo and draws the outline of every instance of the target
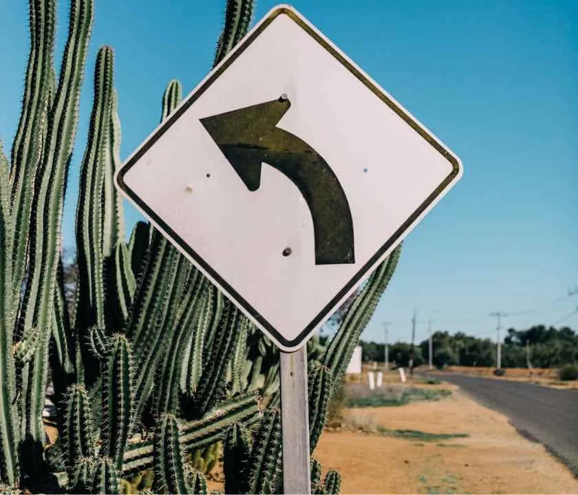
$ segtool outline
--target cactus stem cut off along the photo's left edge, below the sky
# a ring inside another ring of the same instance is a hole
[[[8,173],[8,163],[0,155],[0,173],[3,179]],[[12,287],[10,285],[11,262],[8,256],[10,232],[9,197],[6,182],[0,185],[0,481],[9,485],[17,484],[19,478],[16,406],[14,398],[16,383],[14,358],[12,356]]]

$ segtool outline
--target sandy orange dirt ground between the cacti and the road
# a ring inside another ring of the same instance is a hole
[[[346,414],[350,423],[469,437],[420,441],[323,432],[314,456],[324,470],[341,472],[343,494],[578,494],[578,481],[542,445],[455,389],[442,401]]]

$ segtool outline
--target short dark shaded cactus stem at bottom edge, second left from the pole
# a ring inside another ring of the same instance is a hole
[[[251,437],[245,426],[234,423],[225,435],[223,471],[225,493],[248,493],[248,459],[251,452]]]

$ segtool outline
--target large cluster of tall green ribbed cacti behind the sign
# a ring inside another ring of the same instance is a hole
[[[56,0],[30,0],[30,55],[10,160],[0,143],[0,483],[17,492],[206,493],[222,455],[225,490],[282,486],[279,353],[149,223],[125,234],[114,52],[98,51],[76,209],[78,284],[65,301],[61,222],[93,18],[71,0],[60,74]],[[244,36],[253,1],[228,0],[215,65]],[[165,119],[182,98],[172,80]],[[389,256],[325,349],[308,343],[311,449],[334,385],[395,269]],[[54,384],[58,439],[43,406]],[[339,474],[312,461],[316,493]]]

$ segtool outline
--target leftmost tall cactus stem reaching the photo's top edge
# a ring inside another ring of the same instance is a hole
[[[30,55],[26,68],[22,113],[12,145],[12,223],[11,245],[5,249],[12,260],[12,303],[19,304],[22,281],[27,268],[28,238],[32,229],[34,173],[41,161],[47,124],[47,107],[52,85],[56,1],[31,0]],[[16,307],[14,307],[14,310]],[[11,314],[16,317],[15,311]]]

